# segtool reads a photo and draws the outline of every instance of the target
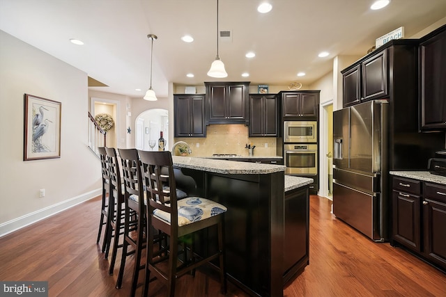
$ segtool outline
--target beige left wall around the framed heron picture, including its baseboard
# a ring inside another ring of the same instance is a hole
[[[0,31],[0,236],[100,194],[87,74]],[[23,161],[24,93],[61,102],[61,158]],[[39,189],[46,195],[39,198]]]

